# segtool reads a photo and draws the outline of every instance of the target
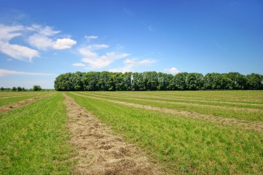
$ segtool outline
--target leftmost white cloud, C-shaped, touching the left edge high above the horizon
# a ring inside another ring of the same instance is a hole
[[[31,61],[33,57],[39,57],[37,50],[9,43],[12,38],[20,36],[22,30],[24,30],[23,26],[0,25],[0,52],[15,59]]]

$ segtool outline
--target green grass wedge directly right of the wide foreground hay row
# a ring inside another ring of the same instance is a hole
[[[263,136],[67,93],[172,174],[262,174]]]

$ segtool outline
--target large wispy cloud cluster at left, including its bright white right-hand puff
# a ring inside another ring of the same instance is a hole
[[[34,57],[39,57],[39,50],[67,49],[77,43],[70,38],[55,39],[58,33],[60,30],[53,30],[51,26],[0,24],[0,52],[15,59],[32,61]],[[22,42],[27,42],[33,48],[21,44],[10,44],[10,40],[15,37],[20,37]]]

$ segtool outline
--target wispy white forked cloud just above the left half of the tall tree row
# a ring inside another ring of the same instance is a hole
[[[81,55],[84,56],[84,58],[81,59],[82,62],[88,63],[91,68],[104,68],[118,59],[129,56],[128,53],[117,54],[114,52],[106,53],[105,55],[99,56],[98,53],[94,52],[94,50],[108,47],[109,46],[106,44],[90,45],[87,47],[82,47],[78,51]]]

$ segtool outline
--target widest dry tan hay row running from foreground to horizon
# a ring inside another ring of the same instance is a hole
[[[71,142],[78,155],[73,174],[162,174],[142,152],[64,93]]]

